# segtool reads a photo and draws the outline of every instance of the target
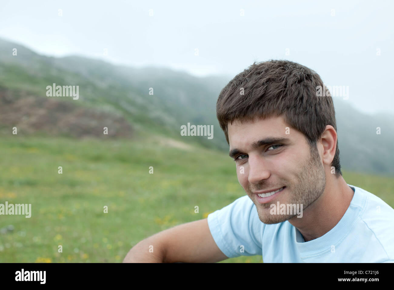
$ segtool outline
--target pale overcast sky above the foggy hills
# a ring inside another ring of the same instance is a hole
[[[346,101],[357,109],[394,113],[393,8],[393,1],[1,0],[0,37],[48,56],[196,76],[232,77],[255,60],[288,59],[327,85],[349,86]]]

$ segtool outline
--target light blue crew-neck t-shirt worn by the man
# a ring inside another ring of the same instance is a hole
[[[394,209],[376,195],[349,186],[355,193],[342,219],[309,242],[289,221],[262,223],[247,195],[209,214],[209,229],[229,258],[262,255],[265,263],[394,262]]]

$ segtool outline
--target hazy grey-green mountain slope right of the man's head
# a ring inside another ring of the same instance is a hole
[[[341,166],[364,173],[393,175],[394,116],[367,115],[355,110],[346,100],[334,99],[334,103]]]

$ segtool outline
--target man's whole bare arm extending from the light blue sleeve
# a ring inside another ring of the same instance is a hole
[[[153,252],[149,252],[151,245]],[[123,262],[214,263],[226,259],[212,238],[208,219],[200,219],[142,240],[132,247]]]

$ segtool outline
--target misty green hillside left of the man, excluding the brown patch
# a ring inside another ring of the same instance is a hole
[[[17,48],[17,56],[12,49]],[[59,100],[123,115],[136,134],[166,134],[180,138],[180,126],[213,125],[214,138],[194,140],[225,150],[227,143],[216,119],[215,104],[225,77],[196,78],[165,68],[134,69],[78,56],[52,58],[0,39],[0,91],[15,98],[29,93],[46,98],[46,86],[79,86],[79,99]],[[150,88],[153,95],[149,95]],[[50,112],[48,112],[50,113]],[[1,124],[0,124],[1,125]],[[53,135],[51,135],[53,136]]]

